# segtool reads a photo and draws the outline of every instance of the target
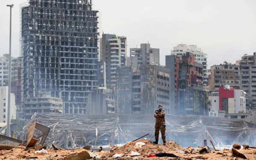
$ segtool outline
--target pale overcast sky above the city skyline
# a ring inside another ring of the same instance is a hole
[[[9,53],[12,8],[12,56],[19,56],[20,4],[0,0],[0,56]],[[177,44],[194,44],[208,57],[208,68],[236,63],[256,52],[256,0],[93,0],[100,13],[99,32],[127,37],[129,48],[150,43],[160,48],[160,64]]]

